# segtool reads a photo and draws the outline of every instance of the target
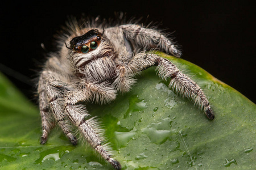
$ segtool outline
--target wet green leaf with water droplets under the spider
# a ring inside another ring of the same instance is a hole
[[[101,119],[122,169],[255,168],[255,104],[200,67],[163,57],[203,88],[216,118],[209,121],[190,100],[168,90],[154,67],[147,69],[129,93],[87,106]],[[59,128],[40,145],[38,109],[3,75],[0,125],[0,169],[113,169],[86,143],[72,146]]]

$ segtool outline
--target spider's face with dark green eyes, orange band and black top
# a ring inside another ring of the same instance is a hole
[[[69,56],[76,68],[84,67],[101,57],[113,56],[114,50],[110,40],[98,29],[91,29],[84,35],[74,37],[69,44]]]

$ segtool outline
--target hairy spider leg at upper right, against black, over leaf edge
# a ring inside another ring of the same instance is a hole
[[[143,28],[135,24],[127,24],[119,26],[127,40],[135,42],[139,47],[147,50],[158,48],[166,53],[171,53],[175,57],[180,57],[181,52],[177,49],[177,45],[167,37],[154,29]]]

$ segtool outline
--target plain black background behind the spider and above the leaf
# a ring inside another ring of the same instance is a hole
[[[1,5],[0,71],[34,101],[30,79],[44,61],[41,44],[53,49],[52,37],[67,16],[113,18],[122,11],[127,18],[143,17],[146,23],[160,22],[160,28],[175,31],[183,59],[256,103],[255,8],[253,1],[10,1]]]

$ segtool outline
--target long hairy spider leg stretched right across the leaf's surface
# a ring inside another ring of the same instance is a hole
[[[181,73],[173,63],[168,61],[168,59],[159,57],[156,54],[138,53],[128,64],[118,67],[117,69],[119,69],[119,71],[117,71],[117,78],[114,82],[116,88],[122,90],[131,86],[131,84],[127,83],[129,81],[125,79],[130,79],[131,75],[140,73],[151,66],[158,66],[157,69],[159,70],[159,76],[161,78],[164,80],[171,78],[169,87],[172,88],[173,91],[184,97],[191,98],[197,105],[199,105],[199,107],[204,109],[206,116],[210,120],[213,120],[213,111],[201,88],[193,82],[192,79]]]

